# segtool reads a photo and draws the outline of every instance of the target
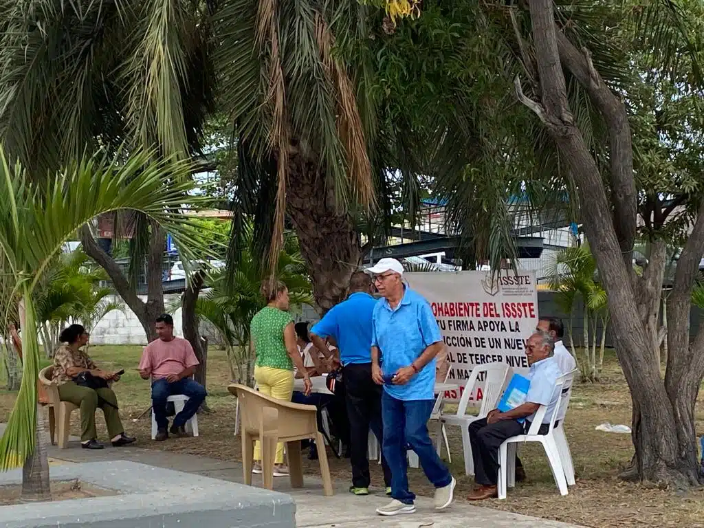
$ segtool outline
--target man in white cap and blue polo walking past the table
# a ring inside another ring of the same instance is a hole
[[[372,316],[372,377],[384,385],[382,419],[384,456],[391,468],[391,496],[379,515],[415,512],[415,495],[408,490],[406,446],[418,455],[425,476],[435,486],[435,508],[453,499],[455,479],[437,455],[427,422],[434,405],[435,356],[442,336],[432,310],[403,283],[403,265],[382,258],[368,268],[382,299]]]

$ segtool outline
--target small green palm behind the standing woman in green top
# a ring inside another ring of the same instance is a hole
[[[253,383],[249,323],[265,306],[260,294],[265,275],[248,249],[251,234],[249,228],[246,231],[245,248],[240,253],[232,277],[228,277],[225,271],[211,275],[208,279],[210,290],[196,303],[196,314],[215,327],[225,344],[233,379],[249,385]],[[287,284],[292,309],[313,303],[306,266],[296,237],[291,234],[284,237],[284,247],[279,253],[275,275]],[[233,368],[233,363],[236,368]]]

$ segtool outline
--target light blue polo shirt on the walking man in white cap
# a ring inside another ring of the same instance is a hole
[[[374,307],[372,346],[382,354],[382,372],[392,375],[408,367],[430,345],[442,341],[440,328],[425,298],[406,286],[395,310],[385,298]],[[425,365],[405,385],[385,384],[384,391],[397,400],[432,400],[435,386],[435,359]]]

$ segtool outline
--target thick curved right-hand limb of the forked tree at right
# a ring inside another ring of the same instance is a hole
[[[560,62],[586,89],[607,125],[614,227],[623,260],[630,266],[636,239],[638,194],[633,177],[633,146],[626,108],[594,68],[589,50],[583,48],[580,52],[562,32],[556,32],[556,36]]]

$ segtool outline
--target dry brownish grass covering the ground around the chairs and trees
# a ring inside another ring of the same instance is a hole
[[[201,436],[194,439],[170,439],[166,442],[149,441],[151,423],[149,414],[139,422],[137,417],[149,407],[149,387],[139,379],[134,367],[141,348],[129,346],[96,346],[91,353],[99,365],[125,367],[127,373],[115,385],[120,402],[120,412],[125,428],[137,434],[139,444],[165,451],[178,451],[204,455],[222,460],[240,460],[239,439],[233,436],[235,399],[227,393],[230,370],[224,352],[211,351],[208,358],[208,403],[214,413],[199,416]],[[0,393],[0,421],[6,420],[15,394]],[[485,501],[490,508],[509,510],[547,519],[573,522],[589,527],[669,527],[681,524],[686,527],[704,527],[704,491],[689,494],[653,487],[627,484],[617,479],[617,474],[631,459],[633,448],[628,434],[610,434],[594,429],[603,422],[629,424],[631,401],[620,367],[615,356],[605,360],[603,381],[599,384],[575,386],[567,415],[565,430],[570,441],[577,485],[570,488],[567,497],[560,497],[541,448],[525,446],[520,456],[528,474],[528,482],[509,491],[508,500]],[[77,419],[77,413],[75,413]],[[99,417],[99,433],[107,434]],[[697,415],[698,431],[704,432],[704,415]],[[78,432],[77,422],[73,432]],[[458,477],[457,496],[462,498],[470,491],[472,479],[463,476],[462,441],[459,429],[448,427],[452,451],[452,469]],[[341,482],[351,479],[349,461],[337,460],[329,455],[334,478]],[[305,461],[306,472],[315,474],[318,465]],[[372,468],[372,482],[382,484],[378,465]],[[413,491],[421,495],[432,494],[422,471],[410,470]]]

